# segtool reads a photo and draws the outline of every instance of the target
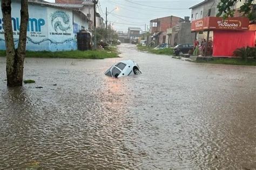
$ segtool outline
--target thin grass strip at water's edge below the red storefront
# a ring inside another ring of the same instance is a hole
[[[256,66],[256,60],[242,60],[235,58],[213,58],[211,61],[193,61],[198,63],[215,63],[215,64],[223,64],[223,65],[246,65],[246,66]]]

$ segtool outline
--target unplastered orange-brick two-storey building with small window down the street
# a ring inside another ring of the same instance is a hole
[[[150,20],[150,33],[152,34],[153,39],[156,40],[156,44],[165,43],[167,29],[177,25],[180,22],[184,22],[184,19],[176,16]]]

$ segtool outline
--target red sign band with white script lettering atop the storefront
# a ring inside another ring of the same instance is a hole
[[[220,17],[205,17],[193,20],[191,31],[206,30],[248,30],[249,19],[246,17],[227,18],[223,20]]]

